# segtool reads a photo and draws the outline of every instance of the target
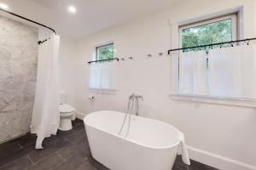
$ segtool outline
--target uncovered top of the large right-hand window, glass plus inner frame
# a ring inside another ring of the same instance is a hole
[[[230,42],[236,39],[237,14],[230,14],[179,27],[179,42],[182,48]],[[225,46],[229,46],[229,44]]]

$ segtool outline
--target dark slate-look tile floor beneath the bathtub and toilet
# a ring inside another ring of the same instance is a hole
[[[58,131],[44,139],[44,150],[35,150],[36,136],[27,134],[19,139],[0,144],[0,170],[108,170],[90,155],[84,123],[73,122],[73,129]],[[217,170],[191,160],[183,164],[177,156],[172,170]]]

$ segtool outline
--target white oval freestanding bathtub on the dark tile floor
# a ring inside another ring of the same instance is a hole
[[[172,170],[180,132],[165,122],[131,116],[128,136],[119,129],[125,114],[96,111],[84,117],[90,151],[111,170]],[[128,122],[128,121],[127,121]]]

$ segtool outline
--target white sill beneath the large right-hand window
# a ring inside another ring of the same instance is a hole
[[[193,101],[201,103],[210,103],[218,105],[236,105],[242,107],[256,107],[256,99],[236,99],[236,98],[224,98],[217,96],[201,96],[201,95],[189,95],[189,94],[173,94],[169,93],[172,99]]]

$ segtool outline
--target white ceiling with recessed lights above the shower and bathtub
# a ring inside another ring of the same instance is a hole
[[[54,26],[61,35],[79,39],[102,31],[111,26],[116,26],[128,20],[134,20],[145,14],[154,13],[162,8],[171,6],[173,3],[183,0],[30,0],[44,8],[44,23]],[[14,5],[20,0],[9,0]],[[26,1],[26,3],[29,1]],[[23,0],[22,8],[25,9]],[[29,6],[29,4],[27,4]],[[76,14],[69,14],[67,6],[73,5],[77,8]],[[17,8],[21,10],[22,8]],[[41,10],[42,11],[42,10]],[[15,11],[14,11],[15,12]],[[24,11],[26,12],[26,11]],[[32,19],[42,19],[44,14],[37,14],[40,10],[33,8]],[[25,13],[24,13],[25,14]],[[37,18],[37,16],[40,16]],[[49,19],[50,17],[50,19]],[[46,21],[45,21],[46,20]],[[51,20],[48,22],[47,20]],[[52,21],[54,20],[54,21]]]

